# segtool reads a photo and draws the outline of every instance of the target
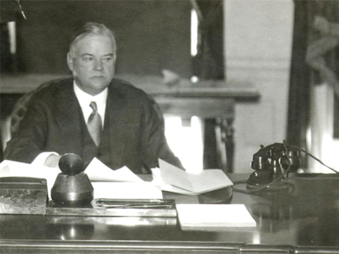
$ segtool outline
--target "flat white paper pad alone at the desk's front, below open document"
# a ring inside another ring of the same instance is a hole
[[[256,227],[256,221],[243,204],[177,204],[183,229]]]

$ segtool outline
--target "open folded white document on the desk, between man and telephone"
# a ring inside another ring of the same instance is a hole
[[[159,159],[159,172],[153,170],[154,183],[164,191],[186,195],[201,193],[232,186],[232,181],[221,169],[207,169],[197,174],[188,173]]]

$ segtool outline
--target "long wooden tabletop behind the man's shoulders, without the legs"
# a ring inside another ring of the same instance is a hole
[[[64,77],[70,75],[3,74],[1,93],[26,93],[44,82]],[[258,90],[247,81],[203,80],[193,83],[188,79],[180,79],[177,85],[168,86],[161,75],[117,74],[115,77],[132,83],[152,96],[233,98],[236,101],[257,101],[260,97]]]

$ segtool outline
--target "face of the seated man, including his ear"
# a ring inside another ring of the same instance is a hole
[[[73,45],[67,63],[76,84],[96,95],[111,82],[115,72],[115,45],[109,36],[88,34]]]

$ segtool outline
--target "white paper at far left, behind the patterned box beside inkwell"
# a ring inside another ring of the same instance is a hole
[[[49,197],[51,197],[50,191],[59,173],[61,173],[59,168],[33,166],[28,163],[10,160],[4,160],[0,163],[0,177],[32,177],[46,179]]]

